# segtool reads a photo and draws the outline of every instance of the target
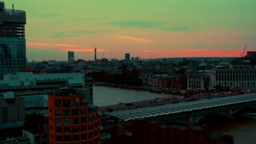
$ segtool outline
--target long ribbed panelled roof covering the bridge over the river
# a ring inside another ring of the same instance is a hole
[[[169,115],[171,113],[188,112],[191,110],[201,110],[210,107],[225,106],[231,104],[245,103],[247,101],[255,101],[256,93],[234,95],[230,97],[202,99],[197,101],[188,101],[176,104],[165,104],[159,106],[149,106],[138,109],[105,112],[104,114],[114,116],[124,121],[131,119],[155,117],[162,115]]]

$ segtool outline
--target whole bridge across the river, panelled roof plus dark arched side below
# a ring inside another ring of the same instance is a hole
[[[149,121],[179,122],[192,126],[206,115],[216,113],[232,117],[234,113],[246,107],[256,108],[256,93],[104,112],[103,114],[125,122],[144,118]]]

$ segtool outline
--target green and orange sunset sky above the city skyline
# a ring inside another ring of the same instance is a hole
[[[25,10],[28,61],[240,57],[256,51],[255,0],[5,0]]]

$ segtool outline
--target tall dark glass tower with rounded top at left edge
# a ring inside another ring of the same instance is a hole
[[[0,2],[0,79],[4,74],[26,71],[26,12],[5,9]]]

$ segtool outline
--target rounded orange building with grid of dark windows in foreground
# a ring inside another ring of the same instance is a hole
[[[101,143],[96,107],[83,104],[82,96],[54,92],[48,96],[49,139],[54,143]]]

